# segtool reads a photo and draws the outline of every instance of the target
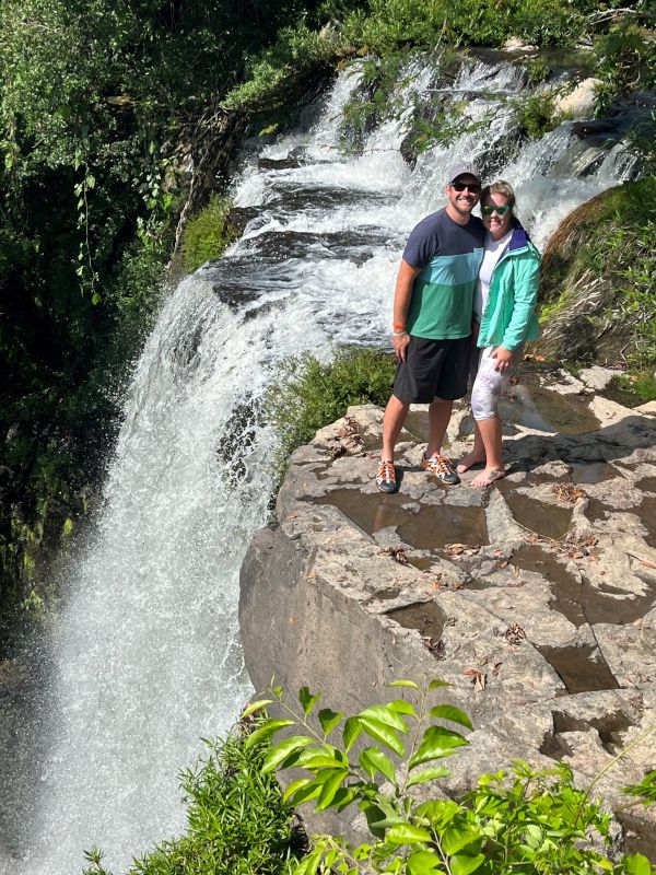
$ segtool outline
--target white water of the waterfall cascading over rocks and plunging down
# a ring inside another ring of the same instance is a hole
[[[407,86],[415,94],[431,88],[433,72],[423,72]],[[339,150],[340,112],[359,82],[358,71],[341,73],[314,127],[250,160],[234,198],[256,217],[163,306],[104,505],[70,571],[52,641],[47,754],[37,798],[16,814],[25,830],[15,831],[8,873],[69,875],[96,843],[118,875],[181,829],[177,771],[201,752],[199,737],[227,730],[250,691],[237,576],[267,516],[272,446],[254,406],[290,353],[386,342],[409,230],[442,206],[448,166],[484,161],[512,135],[497,95],[523,78],[509,65],[461,72],[458,92],[473,94],[468,115],[493,109],[495,124],[424,153],[412,172],[398,151],[402,119],[373,131],[360,156]],[[599,152],[595,172],[565,179],[563,155],[572,167],[584,148],[564,125],[496,174],[516,185],[538,244],[630,170]]]

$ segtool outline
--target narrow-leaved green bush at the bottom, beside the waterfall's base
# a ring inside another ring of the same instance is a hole
[[[223,744],[209,743],[207,759],[183,772],[187,831],[163,842],[130,875],[285,875],[301,849],[292,808],[273,774],[263,768],[270,750],[242,730]],[[109,875],[103,855],[86,853],[85,875]]]

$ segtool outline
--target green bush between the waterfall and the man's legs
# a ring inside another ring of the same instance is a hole
[[[285,359],[263,402],[265,419],[278,438],[278,476],[296,447],[342,417],[350,405],[387,404],[394,371],[394,358],[375,349],[341,350],[328,364],[311,353]]]

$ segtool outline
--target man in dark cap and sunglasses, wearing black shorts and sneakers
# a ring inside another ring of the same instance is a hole
[[[471,214],[481,182],[471,164],[449,173],[447,203],[408,238],[394,296],[391,342],[398,366],[383,420],[376,485],[397,489],[394,450],[411,404],[430,404],[429,444],[421,466],[443,483],[458,483],[442,442],[453,402],[467,392],[473,293],[483,256],[484,229]]]

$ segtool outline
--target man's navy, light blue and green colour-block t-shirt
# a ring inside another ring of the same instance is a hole
[[[412,287],[408,332],[432,340],[471,334],[471,314],[485,230],[472,215],[466,225],[446,209],[426,215],[408,237],[403,260],[421,268]]]

